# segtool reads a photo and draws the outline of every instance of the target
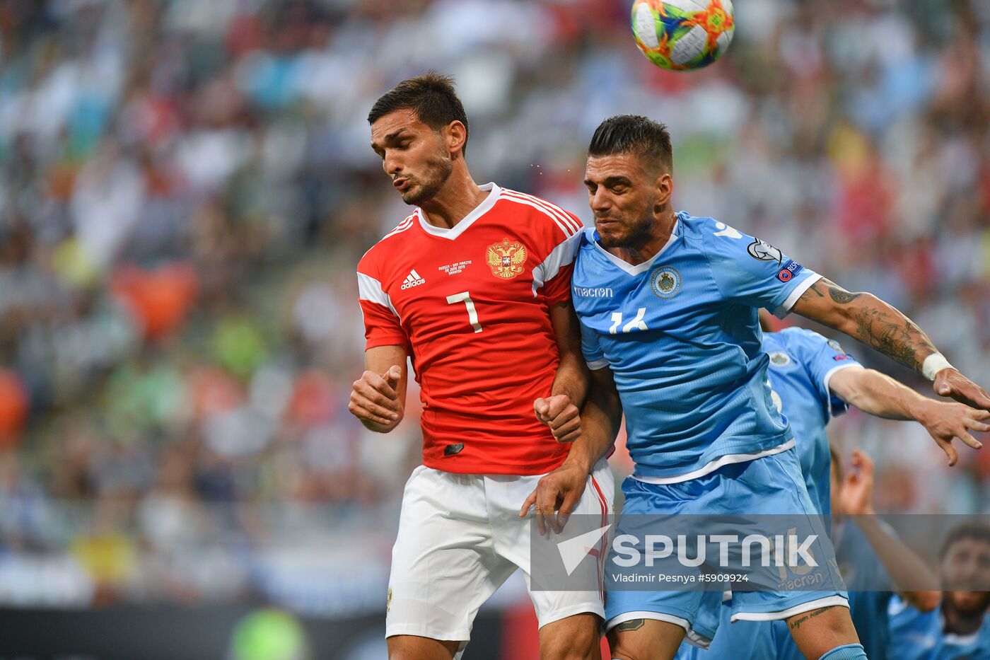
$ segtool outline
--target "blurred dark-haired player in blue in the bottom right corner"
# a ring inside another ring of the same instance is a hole
[[[945,591],[936,609],[922,611],[896,596],[891,599],[887,657],[987,660],[990,527],[974,522],[950,531],[940,551],[939,573]]]

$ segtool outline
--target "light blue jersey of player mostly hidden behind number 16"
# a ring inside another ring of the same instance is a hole
[[[827,515],[832,460],[825,426],[847,409],[845,401],[829,391],[829,381],[839,370],[860,365],[837,341],[802,328],[764,334],[763,350],[770,357],[773,402],[794,431],[808,495]]]

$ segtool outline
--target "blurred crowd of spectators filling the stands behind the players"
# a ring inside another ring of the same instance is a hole
[[[745,0],[689,74],[638,52],[629,5],[0,0],[0,601],[31,601],[39,557],[83,599],[196,600],[265,591],[300,537],[377,538],[420,435],[347,414],[354,266],[407,215],[365,116],[431,67],[479,182],[589,222],[588,138],[647,114],[678,207],[877,293],[990,385],[990,5]],[[876,457],[878,509],[990,512],[990,454],[948,470],[917,425],[835,427]],[[204,545],[225,559],[183,559]]]

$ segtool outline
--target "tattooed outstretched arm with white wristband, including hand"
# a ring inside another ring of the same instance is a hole
[[[825,277],[802,293],[791,311],[854,337],[920,374],[927,358],[940,357],[928,335],[897,309],[872,293],[850,293]],[[930,376],[937,394],[990,410],[986,389],[958,370],[944,367]]]

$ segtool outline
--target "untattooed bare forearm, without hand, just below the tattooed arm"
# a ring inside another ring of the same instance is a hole
[[[914,389],[872,369],[846,369],[833,377],[830,389],[843,401],[875,417],[921,420],[931,403]]]

